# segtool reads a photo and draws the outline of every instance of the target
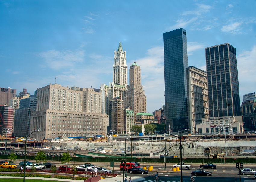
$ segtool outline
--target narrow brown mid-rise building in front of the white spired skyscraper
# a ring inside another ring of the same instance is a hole
[[[116,134],[124,134],[123,100],[116,97],[109,101],[109,127]]]

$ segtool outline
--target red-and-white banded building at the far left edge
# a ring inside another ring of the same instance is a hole
[[[13,107],[8,105],[0,106],[0,114],[0,134],[11,137],[12,132],[5,134],[3,133],[3,128],[11,128],[10,130],[13,131]]]

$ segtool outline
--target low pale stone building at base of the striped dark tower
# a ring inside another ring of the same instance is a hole
[[[202,123],[196,125],[198,134],[240,134],[243,130],[242,116],[202,118]]]

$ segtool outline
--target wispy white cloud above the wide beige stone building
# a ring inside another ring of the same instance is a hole
[[[51,69],[72,68],[74,63],[83,62],[84,51],[56,51],[49,50],[45,52],[37,53],[37,56],[42,57],[46,66]]]

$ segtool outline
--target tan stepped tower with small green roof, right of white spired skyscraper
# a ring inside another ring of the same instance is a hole
[[[134,114],[147,112],[147,98],[141,85],[140,66],[134,62],[129,70],[129,85],[123,94],[124,107],[130,107]]]

